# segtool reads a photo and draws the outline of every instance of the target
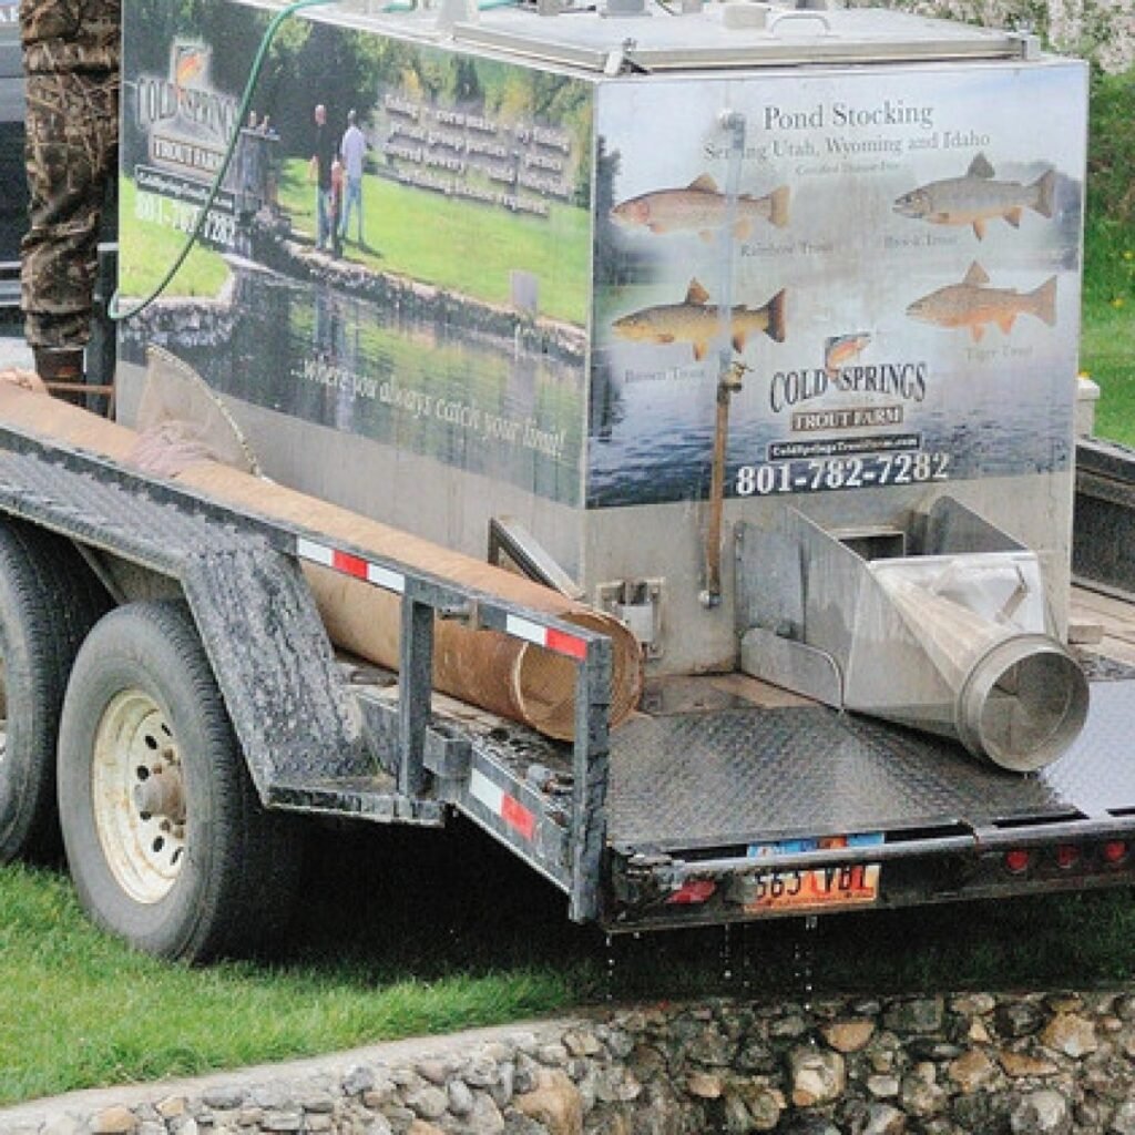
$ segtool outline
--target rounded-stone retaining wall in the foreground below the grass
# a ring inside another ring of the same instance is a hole
[[[0,1110],[3,1135],[1135,1135],[1135,992],[613,1009]]]

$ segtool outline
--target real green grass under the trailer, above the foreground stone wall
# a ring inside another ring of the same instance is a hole
[[[102,935],[61,873],[0,868],[0,1105],[588,1002],[1083,989],[1135,968],[1127,891],[607,942],[471,826],[360,825],[320,842],[305,906],[271,958],[203,969]]]

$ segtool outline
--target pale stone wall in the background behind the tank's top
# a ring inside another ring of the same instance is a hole
[[[990,27],[1028,27],[1057,50],[1105,70],[1135,65],[1135,0],[848,0],[856,8],[901,8]]]

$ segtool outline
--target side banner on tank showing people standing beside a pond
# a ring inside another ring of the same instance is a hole
[[[588,84],[271,10],[127,0],[120,292],[218,392],[575,504]],[[238,120],[239,119],[239,120]]]

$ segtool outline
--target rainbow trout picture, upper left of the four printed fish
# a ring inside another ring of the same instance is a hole
[[[766,193],[763,197],[742,193],[732,213],[733,236],[743,241],[753,233],[755,218],[777,228],[788,224],[789,187]],[[729,199],[717,190],[717,183],[703,174],[684,188],[655,190],[620,202],[611,215],[629,227],[644,226],[651,233],[696,232],[703,241],[712,241],[730,219]]]

